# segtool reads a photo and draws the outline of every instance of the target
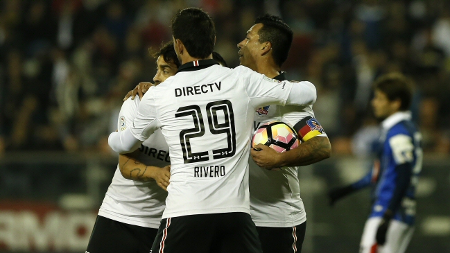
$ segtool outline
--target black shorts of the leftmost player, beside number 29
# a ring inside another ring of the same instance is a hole
[[[97,216],[87,253],[149,253],[158,229]]]

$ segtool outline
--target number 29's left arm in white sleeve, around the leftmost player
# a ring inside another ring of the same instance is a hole
[[[156,105],[152,88],[139,103],[136,118],[131,128],[123,132],[112,132],[108,138],[110,147],[119,154],[126,154],[139,148],[142,142],[150,137],[161,125],[156,119]]]

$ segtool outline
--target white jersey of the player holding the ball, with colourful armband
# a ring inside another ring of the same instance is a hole
[[[280,78],[285,79],[284,73],[275,77]],[[299,133],[301,141],[327,136],[323,130],[314,132],[309,128],[309,122],[315,121],[312,105],[268,105],[254,112],[254,130],[270,121],[283,121],[291,125]],[[318,121],[315,123],[318,125]],[[251,157],[249,166],[250,211],[254,224],[258,227],[294,227],[304,223],[306,212],[300,198],[298,167],[268,171],[257,166]]]

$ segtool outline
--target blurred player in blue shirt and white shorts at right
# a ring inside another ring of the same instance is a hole
[[[329,192],[330,203],[334,204],[349,193],[372,186],[372,211],[361,238],[362,253],[403,253],[413,236],[422,137],[408,112],[411,99],[410,83],[401,74],[388,74],[375,81],[372,107],[375,116],[383,120],[378,159],[361,180]]]

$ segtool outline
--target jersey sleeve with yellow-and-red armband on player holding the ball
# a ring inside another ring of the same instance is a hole
[[[313,137],[327,137],[322,125],[315,119],[311,106],[284,114],[284,118],[293,123],[293,128],[301,141],[308,141]]]

